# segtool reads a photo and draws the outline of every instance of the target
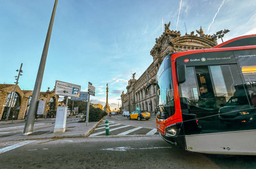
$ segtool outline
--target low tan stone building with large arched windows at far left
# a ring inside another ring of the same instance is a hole
[[[11,96],[14,91],[14,84],[0,84],[0,118],[5,119],[5,114],[10,107]],[[20,120],[25,118],[25,114],[28,113],[29,105],[31,102],[33,91],[21,90],[17,85],[13,105],[11,106],[10,116],[14,116],[14,120]],[[40,92],[39,100],[45,100],[44,115],[46,114],[46,108],[49,107],[48,112],[56,111],[57,106],[64,106],[64,103],[58,102],[59,96],[54,95],[54,90],[46,92]]]

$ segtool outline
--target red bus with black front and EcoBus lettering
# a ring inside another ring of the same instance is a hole
[[[156,128],[187,151],[256,155],[256,35],[166,55],[156,83]]]

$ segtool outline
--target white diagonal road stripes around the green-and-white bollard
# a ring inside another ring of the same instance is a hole
[[[158,135],[154,128],[133,126],[109,121],[109,136],[152,136]],[[100,123],[89,137],[106,136],[105,122]]]

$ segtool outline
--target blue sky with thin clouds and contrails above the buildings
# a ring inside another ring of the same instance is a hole
[[[150,50],[171,21],[175,30],[180,0],[59,0],[41,91],[55,81],[96,87],[95,103],[117,108],[132,73],[140,77],[152,63]],[[33,90],[54,0],[1,0],[0,83],[13,84],[23,63],[19,86]],[[182,35],[229,29],[224,41],[256,34],[256,0],[182,0],[177,30]],[[214,19],[214,21],[213,21]],[[221,40],[218,40],[220,43]]]

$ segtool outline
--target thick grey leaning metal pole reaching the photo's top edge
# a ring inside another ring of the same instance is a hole
[[[45,43],[44,43],[44,49],[43,49],[41,61],[40,61],[37,76],[36,76],[36,82],[35,82],[35,86],[34,86],[34,90],[33,90],[33,95],[31,98],[31,104],[30,104],[29,111],[28,111],[28,119],[27,119],[25,127],[24,127],[23,135],[28,135],[33,132],[35,115],[36,115],[36,106],[37,106],[36,103],[37,103],[39,95],[40,95],[41,84],[42,84],[42,80],[43,80],[43,76],[44,76],[44,67],[45,67],[49,43],[50,43],[50,39],[51,39],[51,30],[52,30],[52,25],[54,23],[54,16],[55,16],[57,2],[58,2],[58,0],[55,0],[54,8],[51,13],[51,20],[49,23],[49,28],[48,28]]]

